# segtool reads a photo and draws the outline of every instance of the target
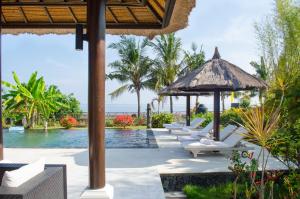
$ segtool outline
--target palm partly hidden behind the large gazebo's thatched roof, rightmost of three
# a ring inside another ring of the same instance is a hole
[[[199,52],[197,52],[198,46],[196,43],[193,42],[191,49],[192,52],[184,51],[183,63],[185,67],[181,71],[180,73],[181,75],[185,75],[192,70],[200,68],[205,63],[205,53],[202,49],[202,46]],[[198,105],[199,105],[199,96],[196,96],[196,104],[195,104],[196,109]]]

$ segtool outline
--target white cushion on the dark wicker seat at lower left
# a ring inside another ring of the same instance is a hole
[[[25,165],[13,171],[5,171],[2,178],[3,187],[18,187],[45,169],[45,159],[42,158],[34,163]]]

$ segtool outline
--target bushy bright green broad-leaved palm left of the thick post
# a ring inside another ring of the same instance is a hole
[[[26,127],[34,127],[35,118],[41,114],[45,128],[51,114],[65,106],[61,103],[62,94],[56,86],[46,88],[43,77],[37,79],[37,72],[34,72],[27,83],[21,83],[19,77],[13,72],[15,85],[3,81],[2,84],[9,90],[2,97],[4,108],[18,115],[25,116]]]

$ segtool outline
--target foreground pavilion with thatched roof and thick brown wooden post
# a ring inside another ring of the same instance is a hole
[[[105,187],[106,33],[116,35],[133,34],[151,38],[155,35],[174,32],[187,26],[188,16],[195,3],[195,0],[0,1],[0,40],[1,34],[17,35],[30,33],[43,35],[76,33],[77,49],[82,49],[83,40],[89,43],[88,131],[90,189],[98,189],[99,192],[105,191],[103,188]],[[0,131],[1,160],[3,159],[2,126],[0,126]],[[92,194],[97,195],[98,192],[92,192]],[[102,194],[102,192],[99,194]],[[83,197],[89,198],[89,194]]]

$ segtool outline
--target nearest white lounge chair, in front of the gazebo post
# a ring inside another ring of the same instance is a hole
[[[198,142],[192,143],[183,143],[183,147],[185,150],[190,151],[193,153],[194,157],[196,158],[200,152],[214,152],[214,151],[247,151],[253,148],[251,147],[242,147],[238,146],[238,144],[243,139],[243,134],[247,131],[239,127],[234,133],[229,135],[223,142],[221,141],[213,141],[209,139],[201,139]]]

